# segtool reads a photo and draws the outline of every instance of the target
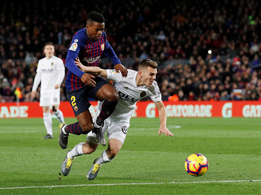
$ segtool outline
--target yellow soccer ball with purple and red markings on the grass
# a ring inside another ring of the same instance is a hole
[[[188,174],[198,177],[204,175],[209,168],[209,162],[202,154],[191,154],[185,161]]]

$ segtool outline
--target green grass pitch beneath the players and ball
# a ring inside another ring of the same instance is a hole
[[[65,121],[71,124],[76,118]],[[259,118],[168,118],[174,137],[158,135],[157,118],[132,118],[116,159],[102,165],[93,181],[86,174],[107,147],[77,157],[70,174],[62,176],[66,152],[85,142],[86,135],[70,135],[67,149],[62,150],[56,119],[55,138],[47,140],[40,139],[46,135],[41,118],[0,119],[0,126],[0,188],[35,186],[0,189],[0,194],[260,194],[261,181],[220,182],[261,179]],[[192,153],[209,161],[209,170],[201,177],[185,171],[184,162]],[[211,182],[193,183],[204,181]],[[99,185],[122,183],[137,184]]]

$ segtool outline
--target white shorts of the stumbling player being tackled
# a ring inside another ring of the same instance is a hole
[[[93,119],[96,119],[96,118],[97,118],[97,116],[95,114],[95,117],[93,117]],[[110,138],[115,138],[115,139],[118,139],[119,141],[121,141],[123,144],[129,126],[130,126],[129,119],[120,121],[120,120],[111,119],[109,117],[104,121],[104,126],[102,127],[102,131],[103,131],[103,134],[105,135],[106,130],[107,130],[108,140]],[[86,141],[89,141],[93,144],[99,144],[97,141],[96,135],[94,133],[92,133],[92,131],[87,134]]]

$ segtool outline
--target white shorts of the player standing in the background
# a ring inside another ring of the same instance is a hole
[[[60,88],[40,93],[40,106],[60,105]]]

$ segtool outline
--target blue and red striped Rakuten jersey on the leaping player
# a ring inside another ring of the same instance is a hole
[[[68,68],[66,74],[66,89],[76,90],[84,86],[81,82],[83,71],[75,64],[75,58],[79,57],[84,66],[99,66],[99,58],[104,54],[114,65],[121,64],[113,48],[107,41],[106,33],[103,32],[99,41],[91,41],[87,36],[86,28],[77,31],[73,35],[70,48],[67,51],[65,66]]]

